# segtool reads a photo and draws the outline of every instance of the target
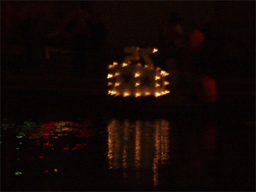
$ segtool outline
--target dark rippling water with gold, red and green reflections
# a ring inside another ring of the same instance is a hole
[[[111,118],[105,126],[86,118],[22,123],[4,119],[2,186],[6,190],[222,189],[240,181],[232,176],[232,168],[245,176],[253,167],[249,161],[245,171],[239,169],[238,164],[246,162],[241,160],[248,160],[248,149],[243,154],[232,149],[231,143],[246,147],[248,143],[239,140],[244,132],[222,129],[212,121],[164,118]],[[247,134],[243,136],[253,141]]]

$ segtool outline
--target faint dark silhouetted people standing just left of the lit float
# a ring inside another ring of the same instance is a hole
[[[71,35],[74,74],[81,74],[90,59],[94,60],[93,70],[99,70],[97,67],[102,62],[102,51],[108,34],[100,15],[92,14],[88,9],[80,9],[77,17],[66,26],[66,32]]]

